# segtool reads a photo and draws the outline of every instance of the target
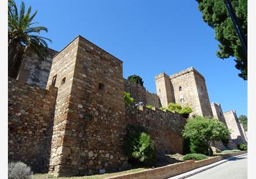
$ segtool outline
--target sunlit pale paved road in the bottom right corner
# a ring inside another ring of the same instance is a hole
[[[235,157],[188,179],[247,179],[247,155]]]

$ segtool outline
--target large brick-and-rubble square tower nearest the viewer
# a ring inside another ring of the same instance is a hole
[[[58,87],[49,172],[104,173],[127,164],[123,62],[77,36],[52,61],[48,84]]]

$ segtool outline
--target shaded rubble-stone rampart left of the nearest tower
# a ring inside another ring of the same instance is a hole
[[[57,88],[8,78],[8,158],[48,172]]]

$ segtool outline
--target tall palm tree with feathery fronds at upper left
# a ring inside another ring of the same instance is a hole
[[[25,4],[21,2],[20,13],[13,0],[8,0],[8,75],[16,78],[27,49],[34,50],[40,59],[48,55],[48,44],[51,39],[39,36],[40,32],[48,32],[46,27],[32,27],[37,11],[30,15],[31,7],[25,13]]]

